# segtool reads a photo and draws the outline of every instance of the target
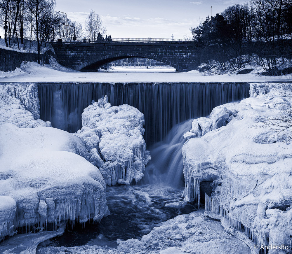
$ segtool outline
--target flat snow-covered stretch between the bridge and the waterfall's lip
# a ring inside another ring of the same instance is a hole
[[[199,71],[189,72],[81,72],[55,64],[41,66],[36,62],[29,64],[25,71],[0,72],[1,82],[285,82],[287,76],[260,76],[256,73],[239,75],[203,75]],[[56,70],[58,68],[58,70]]]

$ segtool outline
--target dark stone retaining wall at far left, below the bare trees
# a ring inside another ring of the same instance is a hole
[[[47,53],[41,54],[41,59],[45,57],[44,63],[49,62],[52,51],[48,50]],[[0,48],[0,71],[14,71],[15,68],[20,67],[23,61],[37,62],[37,54],[29,52],[19,52],[16,50],[7,50]]]

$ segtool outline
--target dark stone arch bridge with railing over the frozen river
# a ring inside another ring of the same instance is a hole
[[[197,68],[196,43],[188,39],[112,39],[111,42],[53,43],[60,64],[78,71],[97,71],[115,60],[141,57],[154,59],[177,71]]]

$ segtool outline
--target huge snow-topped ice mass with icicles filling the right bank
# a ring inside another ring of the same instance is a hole
[[[290,86],[251,84],[250,98],[195,119],[190,132],[197,137],[182,150],[186,201],[199,203],[205,195],[207,211],[221,214],[259,245],[289,250],[292,145],[288,132],[278,135],[277,127],[261,122],[291,108],[285,94]]]

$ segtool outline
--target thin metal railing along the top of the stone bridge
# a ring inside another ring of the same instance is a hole
[[[165,38],[113,38],[111,40],[65,40],[63,44],[88,44],[88,43],[195,43],[194,39],[165,39]]]

